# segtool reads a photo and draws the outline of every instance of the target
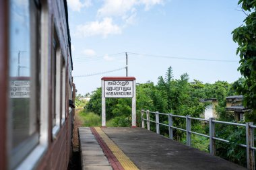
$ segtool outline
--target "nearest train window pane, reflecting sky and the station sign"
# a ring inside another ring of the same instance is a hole
[[[9,140],[10,169],[39,142],[40,10],[34,1],[9,3]]]

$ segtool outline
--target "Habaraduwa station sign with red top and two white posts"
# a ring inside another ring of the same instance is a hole
[[[132,98],[131,127],[136,127],[135,77],[102,77],[102,127],[106,126],[106,98]]]

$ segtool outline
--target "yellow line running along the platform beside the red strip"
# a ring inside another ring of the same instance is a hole
[[[108,148],[113,152],[115,157],[117,157],[117,160],[121,165],[123,166],[123,169],[125,170],[135,170],[138,169],[136,165],[123,153],[123,151],[111,140],[108,138],[108,136],[101,130],[100,127],[96,127],[95,130],[98,132],[100,137],[104,140]]]

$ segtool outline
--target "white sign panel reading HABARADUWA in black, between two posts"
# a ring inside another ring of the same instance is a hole
[[[133,81],[104,81],[104,95],[106,98],[131,98]]]

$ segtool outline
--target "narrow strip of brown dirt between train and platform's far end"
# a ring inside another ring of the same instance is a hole
[[[79,112],[82,110],[75,110],[75,122],[74,122],[74,129],[73,129],[73,151],[79,151],[79,141],[78,141],[78,130],[77,128],[82,126],[82,121],[79,120]]]

